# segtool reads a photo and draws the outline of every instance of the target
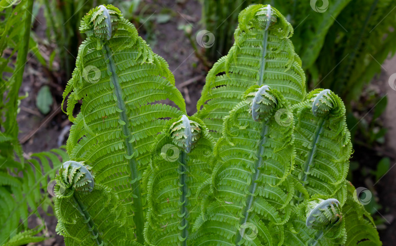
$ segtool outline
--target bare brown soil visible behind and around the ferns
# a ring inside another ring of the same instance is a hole
[[[204,76],[207,72],[203,66],[199,65],[200,62],[194,54],[190,41],[182,30],[178,30],[177,26],[179,24],[191,23],[194,27],[193,33],[199,30],[200,5],[198,1],[189,0],[188,4],[176,4],[173,8],[175,10],[173,18],[169,22],[156,24],[154,27],[156,44],[152,48],[155,53],[162,56],[169,63],[170,70],[175,75],[176,87],[186,99],[187,112],[189,115],[192,115],[197,111],[196,103],[200,97],[200,91],[204,84]],[[141,28],[144,29],[144,26],[145,24]],[[381,118],[383,124],[388,128],[388,132],[385,144],[381,148],[390,153],[396,153],[396,90],[388,85],[388,79],[394,73],[396,73],[396,57],[386,61],[383,65],[383,71],[379,76],[380,79],[374,79],[374,84],[379,85],[380,90],[387,93],[388,96],[388,107]],[[62,134],[62,131],[64,130],[64,133],[67,132],[67,127],[70,126],[70,123],[63,112],[56,112],[61,102],[61,94],[65,83],[60,81],[54,82],[48,79],[43,67],[34,58],[31,58],[27,63],[25,74],[20,94],[28,92],[29,97],[22,100],[18,122],[21,131],[20,139],[26,140],[23,143],[23,150],[26,155],[30,155],[35,152],[57,148],[60,135],[64,135],[65,141],[63,143],[66,143],[67,134]],[[180,87],[183,82],[191,78],[198,79],[186,87]],[[48,114],[53,114],[53,117],[50,118],[41,114],[36,107],[36,95],[44,84],[51,87],[56,101],[52,112]],[[26,137],[34,131],[36,132],[30,138]],[[354,159],[357,159],[359,162],[376,161],[376,157],[371,157],[365,152],[366,150],[364,148],[355,149]],[[371,152],[369,151],[368,153]],[[396,168],[394,168],[394,164],[396,164],[395,159],[392,159],[390,171],[375,185],[376,195],[379,198],[378,201],[383,205],[383,208],[379,210],[376,216],[383,216],[389,222],[385,222],[385,226],[382,226],[385,228],[380,230],[380,237],[385,246],[393,245],[396,241],[396,234],[394,233],[396,223],[392,223],[392,218],[396,218],[396,209],[393,209],[396,207]],[[364,180],[357,180],[361,183],[355,183],[356,187],[367,184],[364,183]],[[47,216],[45,218],[45,224],[48,228],[47,236],[51,236],[52,238],[37,245],[64,245],[63,238],[55,233],[56,219]]]

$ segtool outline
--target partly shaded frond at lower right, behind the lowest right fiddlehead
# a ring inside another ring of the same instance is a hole
[[[381,246],[373,218],[359,202],[355,187],[348,181],[346,183],[348,197],[342,208],[348,235],[345,246]]]

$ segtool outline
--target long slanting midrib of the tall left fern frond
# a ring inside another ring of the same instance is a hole
[[[132,146],[131,141],[131,130],[129,127],[129,120],[127,116],[127,107],[124,102],[124,98],[122,96],[122,89],[120,86],[120,83],[118,82],[118,75],[116,73],[116,67],[114,60],[111,55],[111,50],[109,45],[106,43],[103,45],[106,52],[105,52],[105,58],[108,60],[108,69],[111,72],[110,75],[110,80],[112,84],[114,85],[114,94],[117,97],[117,106],[121,110],[120,112],[120,119],[125,123],[122,125],[122,133],[124,134],[124,143],[125,147],[127,150],[127,155],[131,157],[135,150]],[[133,222],[136,226],[136,238],[137,242],[143,244],[144,243],[144,237],[143,237],[143,228],[144,228],[144,220],[143,220],[143,205],[142,205],[142,196],[141,196],[141,190],[140,190],[140,180],[139,180],[139,174],[137,170],[137,162],[135,157],[132,157],[128,160],[128,165],[129,165],[129,170],[130,170],[130,175],[131,175],[131,189],[132,189],[132,201],[134,205],[134,215],[133,215]]]

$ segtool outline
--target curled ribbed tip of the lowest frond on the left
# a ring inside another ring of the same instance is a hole
[[[83,162],[66,161],[59,170],[56,177],[54,193],[56,197],[70,197],[74,191],[91,192],[94,182],[90,172],[91,167],[85,166]]]

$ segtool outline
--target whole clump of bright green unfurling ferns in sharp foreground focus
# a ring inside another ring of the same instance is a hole
[[[330,90],[306,95],[286,38],[292,28],[276,9],[250,6],[239,19],[236,44],[251,44],[234,45],[209,74],[199,119],[185,115],[166,63],[118,9],[101,5],[84,17],[88,38],[65,91],[73,161],[54,191],[66,245],[381,245],[345,180],[352,146],[342,101]],[[248,80],[238,71],[255,59],[243,53],[250,49],[262,60]],[[283,67],[272,69],[272,58]],[[165,98],[179,109],[156,104]],[[215,145],[212,134],[221,134]]]

